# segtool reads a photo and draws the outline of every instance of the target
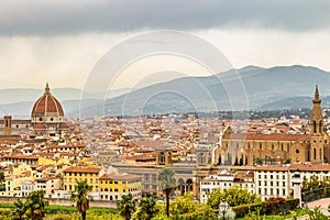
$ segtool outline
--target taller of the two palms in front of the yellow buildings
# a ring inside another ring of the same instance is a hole
[[[82,220],[86,220],[86,211],[89,209],[88,194],[92,190],[92,186],[87,184],[87,180],[78,182],[75,190],[72,193],[72,200],[76,201],[76,207],[81,213]]]

